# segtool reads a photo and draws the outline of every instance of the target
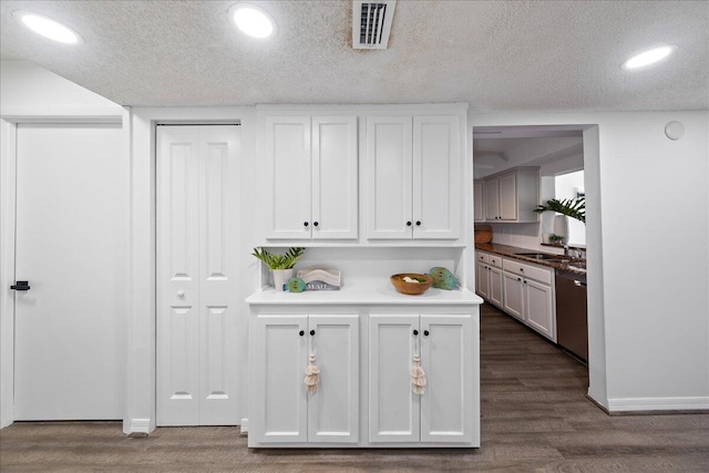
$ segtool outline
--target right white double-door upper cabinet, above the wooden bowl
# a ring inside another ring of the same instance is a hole
[[[458,115],[367,119],[367,237],[458,239]]]

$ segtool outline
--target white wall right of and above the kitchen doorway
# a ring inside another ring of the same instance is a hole
[[[674,120],[679,141],[664,134]],[[557,124],[598,133],[592,163],[584,152],[589,393],[616,411],[708,409],[709,112],[469,115],[471,126]]]

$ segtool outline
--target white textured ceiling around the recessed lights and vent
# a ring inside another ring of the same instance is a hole
[[[351,48],[351,1],[255,1],[278,23],[244,37],[236,1],[0,2],[2,59],[23,59],[124,105],[466,102],[473,111],[709,109],[707,1],[397,2],[389,49]],[[18,9],[85,39],[49,42]],[[628,55],[678,47],[660,66]]]

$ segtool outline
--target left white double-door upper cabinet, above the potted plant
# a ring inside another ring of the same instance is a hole
[[[266,238],[357,239],[357,116],[267,115]]]

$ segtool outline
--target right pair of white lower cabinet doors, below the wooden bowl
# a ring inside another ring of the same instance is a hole
[[[470,315],[371,315],[369,441],[471,442],[472,347]],[[412,389],[415,364],[425,373],[420,394]]]

